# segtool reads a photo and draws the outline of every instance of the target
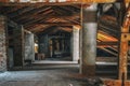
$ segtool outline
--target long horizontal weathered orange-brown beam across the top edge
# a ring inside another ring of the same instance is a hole
[[[72,4],[89,4],[89,3],[114,3],[114,2],[123,2],[122,0],[77,0],[77,1],[65,1],[65,2],[10,2],[5,0],[0,0],[0,5],[72,5]],[[130,2],[130,0],[126,0],[127,3]]]

